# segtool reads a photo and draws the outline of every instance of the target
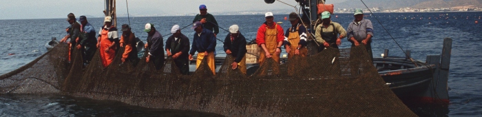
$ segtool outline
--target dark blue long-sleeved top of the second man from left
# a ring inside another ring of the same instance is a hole
[[[96,30],[94,29],[94,26],[92,26],[90,23],[86,23],[83,26],[83,30],[80,34],[81,40],[79,44],[82,46],[87,45],[87,46],[96,46],[97,45],[97,39],[96,39]]]

